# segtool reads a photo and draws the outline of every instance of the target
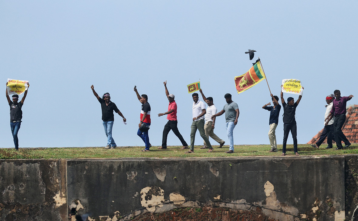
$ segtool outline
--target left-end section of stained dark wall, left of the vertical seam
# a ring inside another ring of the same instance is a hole
[[[0,160],[0,190],[0,220],[67,220],[64,160]]]

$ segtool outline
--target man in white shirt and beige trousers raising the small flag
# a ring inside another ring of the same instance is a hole
[[[205,124],[204,124],[204,131],[205,131],[205,135],[209,138],[209,136],[214,139],[216,142],[218,142],[220,144],[219,148],[221,148],[224,144],[225,141],[221,140],[218,136],[216,136],[216,134],[214,134],[214,125],[215,125],[215,119],[216,117],[214,117],[214,119],[211,119],[211,117],[216,114],[216,112],[218,111],[216,109],[216,106],[213,103],[213,98],[212,97],[205,97],[205,95],[203,94],[202,89],[199,90],[200,94],[203,97],[203,100],[208,104],[208,108],[206,109],[206,114],[205,114]],[[204,141],[204,146],[201,147],[200,149],[207,149],[209,148],[205,141]],[[209,150],[210,152],[212,151],[212,149]]]

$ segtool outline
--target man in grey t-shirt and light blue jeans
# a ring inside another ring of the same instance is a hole
[[[226,94],[225,96],[226,105],[224,108],[218,112],[217,114],[212,116],[214,117],[220,116],[225,113],[225,120],[226,120],[226,130],[227,136],[229,138],[230,148],[229,151],[226,151],[227,154],[232,154],[234,152],[234,137],[233,137],[233,130],[237,124],[237,119],[239,117],[240,111],[239,107],[235,102],[231,100],[231,94]]]

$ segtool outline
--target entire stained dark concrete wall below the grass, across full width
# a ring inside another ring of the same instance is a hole
[[[349,187],[347,176],[354,178],[353,167],[358,172],[358,156],[347,159],[1,160],[0,220],[74,220],[71,210],[91,213],[96,221],[130,220],[147,211],[204,204],[246,210],[258,205],[279,220],[349,220],[345,197],[358,194],[357,182]],[[348,193],[348,187],[356,189]],[[348,204],[353,214],[358,204]]]

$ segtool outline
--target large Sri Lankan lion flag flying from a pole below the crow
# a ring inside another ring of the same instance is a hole
[[[240,94],[241,92],[246,91],[265,78],[266,76],[262,71],[260,61],[257,61],[245,74],[235,77],[237,93]]]

